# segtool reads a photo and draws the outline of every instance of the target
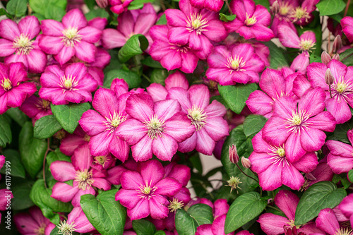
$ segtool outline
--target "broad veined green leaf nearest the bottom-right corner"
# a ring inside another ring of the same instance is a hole
[[[333,208],[340,204],[347,192],[337,188],[335,183],[321,181],[310,186],[301,196],[295,211],[295,225],[305,224],[318,216],[325,208]]]

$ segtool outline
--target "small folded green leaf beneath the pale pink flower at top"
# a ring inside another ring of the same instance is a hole
[[[143,35],[133,35],[121,47],[119,51],[119,61],[125,63],[133,56],[143,54],[143,51],[148,47],[148,40]]]

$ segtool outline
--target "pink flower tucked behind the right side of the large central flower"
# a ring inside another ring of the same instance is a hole
[[[223,119],[227,109],[214,100],[210,104],[210,90],[206,85],[192,85],[189,90],[171,88],[167,99],[177,100],[181,111],[187,114],[189,123],[195,126],[193,135],[179,143],[181,152],[196,151],[212,155],[215,143],[229,135],[229,126]]]

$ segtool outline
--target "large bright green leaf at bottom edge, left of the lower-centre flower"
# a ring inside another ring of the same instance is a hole
[[[80,205],[90,223],[102,235],[121,235],[124,232],[126,208],[115,200],[118,189],[97,195],[81,196]]]

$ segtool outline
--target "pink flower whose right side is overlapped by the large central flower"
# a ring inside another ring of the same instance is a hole
[[[117,132],[127,118],[125,104],[116,97],[114,91],[100,88],[95,92],[92,102],[96,110],[88,110],[83,113],[79,123],[88,135],[90,135],[90,151],[92,155],[107,155],[109,152],[125,162],[128,159],[129,147]]]

